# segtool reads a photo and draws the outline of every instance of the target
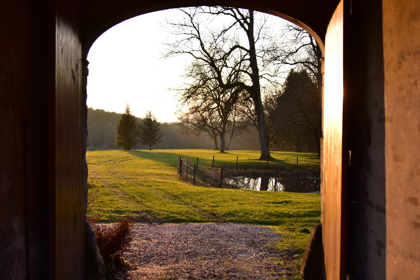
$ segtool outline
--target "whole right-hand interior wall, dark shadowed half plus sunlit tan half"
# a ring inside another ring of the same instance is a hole
[[[346,271],[355,279],[420,279],[419,5],[352,1],[347,14]]]

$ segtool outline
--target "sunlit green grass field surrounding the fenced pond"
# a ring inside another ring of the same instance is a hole
[[[148,222],[233,222],[264,225],[283,236],[273,244],[280,250],[302,253],[313,225],[320,220],[320,195],[287,192],[203,188],[182,182],[176,173],[177,157],[214,166],[266,166],[259,152],[173,149],[149,151],[87,152],[89,216],[103,222],[134,217]],[[313,153],[271,152],[269,167],[282,169],[319,168]],[[250,158],[250,159],[249,159]]]

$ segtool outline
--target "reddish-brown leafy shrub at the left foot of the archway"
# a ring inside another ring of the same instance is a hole
[[[98,224],[99,218],[89,219],[95,231],[96,243],[105,263],[112,262],[114,256],[122,256],[129,248],[132,239],[133,223],[131,218],[121,219],[115,224]]]

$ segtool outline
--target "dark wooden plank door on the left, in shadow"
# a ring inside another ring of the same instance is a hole
[[[82,164],[81,43],[78,6],[58,3],[56,15],[56,272],[57,279],[82,279],[84,199]]]

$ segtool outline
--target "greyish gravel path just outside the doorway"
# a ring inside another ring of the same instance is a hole
[[[298,260],[270,248],[281,236],[243,224],[136,224],[122,279],[290,279]],[[285,265],[287,264],[287,265]],[[117,278],[118,279],[118,278]]]

